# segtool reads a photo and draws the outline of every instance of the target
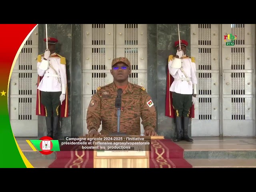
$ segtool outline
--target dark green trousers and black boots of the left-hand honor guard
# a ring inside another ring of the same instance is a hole
[[[47,136],[58,140],[60,127],[60,95],[59,92],[41,92],[41,102],[46,110]]]

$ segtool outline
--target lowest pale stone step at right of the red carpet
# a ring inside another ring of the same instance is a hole
[[[193,168],[256,168],[256,159],[186,159]]]

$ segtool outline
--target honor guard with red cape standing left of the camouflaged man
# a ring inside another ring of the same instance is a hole
[[[56,38],[47,40],[48,49],[37,60],[36,114],[46,116],[47,136],[58,139],[60,118],[68,116],[66,58],[56,53]]]

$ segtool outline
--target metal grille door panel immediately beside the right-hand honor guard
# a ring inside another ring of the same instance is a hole
[[[219,24],[191,24],[191,57],[196,58],[197,104],[191,136],[220,135]]]

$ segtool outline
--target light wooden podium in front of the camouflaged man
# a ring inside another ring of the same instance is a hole
[[[164,136],[130,136],[154,139],[164,139]],[[94,168],[149,168],[149,145],[142,146],[144,150],[94,150]],[[138,146],[137,146],[138,148]]]

